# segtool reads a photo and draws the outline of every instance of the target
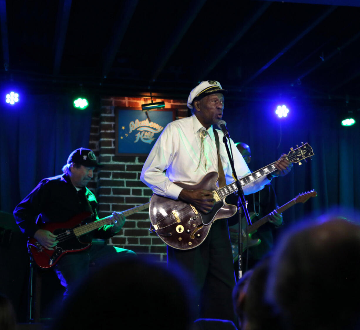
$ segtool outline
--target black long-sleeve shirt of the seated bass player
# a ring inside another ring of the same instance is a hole
[[[41,223],[66,222],[82,213],[91,212],[92,220],[99,220],[96,212],[98,203],[94,194],[86,187],[76,190],[68,175],[46,178],[26,196],[14,210],[16,223],[28,237],[33,237]],[[111,225],[95,230],[96,238],[107,239]]]

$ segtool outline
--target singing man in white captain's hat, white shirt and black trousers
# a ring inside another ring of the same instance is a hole
[[[145,161],[141,181],[156,194],[191,203],[202,212],[209,212],[215,201],[212,192],[205,189],[185,190],[175,182],[197,184],[211,171],[219,171],[213,125],[217,125],[224,110],[224,93],[217,81],[203,81],[189,95],[188,107],[193,115],[175,120],[163,130]],[[226,183],[234,181],[228,156],[219,135],[221,166]],[[239,177],[250,173],[246,162],[229,139],[234,153],[235,170]],[[291,163],[280,158],[275,175],[285,175]],[[166,173],[164,172],[166,170]],[[260,181],[260,182],[258,182]],[[264,187],[264,177],[246,187],[253,193]],[[193,249],[180,250],[168,246],[168,265],[179,264],[190,272],[198,287],[199,315],[204,318],[234,320],[231,292],[235,285],[233,257],[226,220],[212,224],[207,238]]]

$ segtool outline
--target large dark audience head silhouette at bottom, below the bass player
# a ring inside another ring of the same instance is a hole
[[[68,297],[51,328],[185,330],[194,321],[192,292],[180,269],[141,258],[116,261]]]

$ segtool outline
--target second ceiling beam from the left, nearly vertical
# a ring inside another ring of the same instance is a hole
[[[72,0],[60,0],[58,18],[56,22],[54,37],[54,69],[53,75],[57,76],[60,72],[61,60],[64,52],[66,32],[69,25],[70,9]]]

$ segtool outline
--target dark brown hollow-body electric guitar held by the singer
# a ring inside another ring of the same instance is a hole
[[[305,143],[296,149],[291,148],[286,159],[301,165],[302,160],[306,161],[307,157],[313,155],[312,148]],[[246,187],[274,171],[275,162],[239,179],[239,183],[241,187]],[[210,172],[195,185],[176,182],[183,189],[206,189],[213,192],[216,202],[207,214],[186,202],[153,194],[149,206],[150,231],[156,233],[168,246],[176,249],[192,249],[200,245],[207,237],[213,221],[228,218],[237,211],[235,205],[225,203],[225,197],[238,190],[236,183],[219,188],[216,185],[218,177],[217,172]]]

